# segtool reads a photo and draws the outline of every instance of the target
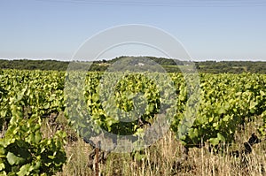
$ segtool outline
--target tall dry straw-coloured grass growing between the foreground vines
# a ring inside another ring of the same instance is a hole
[[[64,122],[65,123],[65,122]],[[47,124],[48,123],[43,123]],[[51,127],[43,127],[43,133],[49,136],[55,130]],[[65,126],[66,124],[64,124]],[[256,123],[252,122],[245,126],[245,130],[235,134],[236,143],[227,146],[224,153],[231,150],[243,149],[243,142],[246,142],[252,133],[256,132]],[[66,128],[68,134],[74,135],[71,128]],[[69,138],[66,144],[67,163],[63,172],[58,176],[65,175],[95,175],[88,167],[90,145],[80,138],[72,140]],[[158,142],[148,149],[145,149],[145,158],[136,160],[129,153],[111,153],[106,164],[99,165],[101,175],[136,175],[136,176],[157,176],[157,175],[266,175],[266,142],[255,144],[251,154],[246,157],[231,157],[228,154],[213,154],[209,152],[208,146],[200,149],[192,148],[186,161],[176,165],[176,161],[183,156],[183,146],[176,141],[175,135],[169,132]]]

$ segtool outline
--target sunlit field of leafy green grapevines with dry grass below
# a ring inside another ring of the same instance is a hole
[[[266,75],[200,73],[199,85],[189,84],[193,78],[0,71],[0,175],[93,175],[98,143],[92,139],[103,130],[115,134],[112,149],[98,151],[104,175],[220,175],[216,164],[199,169],[195,160],[190,163],[204,149],[210,160],[252,165],[246,156],[266,137]],[[123,136],[139,149],[110,152],[120,150]]]

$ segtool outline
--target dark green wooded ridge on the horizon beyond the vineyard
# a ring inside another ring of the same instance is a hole
[[[123,64],[123,57],[115,57],[111,60],[98,60],[94,61],[90,66],[90,71],[106,71],[106,69],[114,63],[120,61],[121,67],[127,65]],[[166,72],[180,73],[180,67],[187,65],[188,61],[180,61],[176,59],[164,58],[164,57],[148,57],[158,65],[161,65]],[[137,65],[134,59],[132,65],[136,65],[135,70],[141,70],[142,68],[149,68],[149,65]],[[195,62],[195,67],[199,73],[266,73],[266,62],[262,61],[204,61]],[[0,69],[19,69],[19,70],[58,70],[66,71],[69,62],[58,60],[4,60],[0,59]],[[153,65],[150,65],[151,68]]]

